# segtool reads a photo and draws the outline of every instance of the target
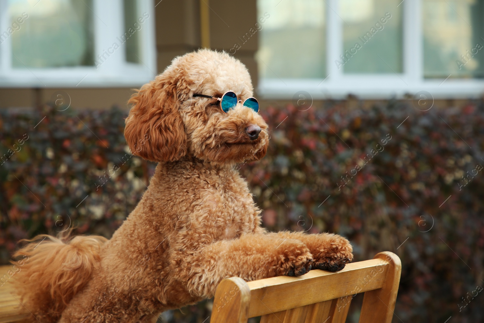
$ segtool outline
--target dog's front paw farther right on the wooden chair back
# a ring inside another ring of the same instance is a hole
[[[348,239],[333,235],[327,246],[322,247],[312,264],[313,269],[340,271],[353,260],[353,247]]]

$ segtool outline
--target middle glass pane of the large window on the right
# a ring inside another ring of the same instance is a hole
[[[345,73],[402,73],[401,0],[340,0]],[[398,7],[397,7],[398,5]]]

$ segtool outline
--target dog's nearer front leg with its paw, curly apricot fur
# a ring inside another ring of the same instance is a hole
[[[255,280],[274,276],[299,276],[311,269],[312,255],[300,240],[244,234],[203,246],[181,261],[179,277],[193,296],[210,298],[218,283],[238,276]]]

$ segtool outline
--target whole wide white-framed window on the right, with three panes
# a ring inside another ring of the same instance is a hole
[[[484,0],[258,0],[259,92],[479,97]]]

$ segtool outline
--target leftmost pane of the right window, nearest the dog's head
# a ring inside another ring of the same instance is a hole
[[[258,0],[257,7],[260,77],[326,77],[324,0]]]

